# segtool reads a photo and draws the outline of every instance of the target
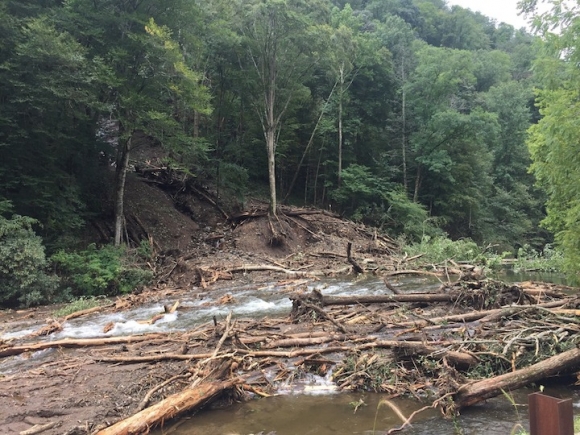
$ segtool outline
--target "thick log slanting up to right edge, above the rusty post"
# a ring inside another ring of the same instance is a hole
[[[580,364],[580,349],[574,348],[524,369],[466,384],[455,394],[455,405],[457,408],[472,406],[499,396],[502,390],[516,390],[558,373],[571,371],[577,368],[578,364]]]

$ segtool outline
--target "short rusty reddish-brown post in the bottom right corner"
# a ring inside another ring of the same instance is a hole
[[[574,435],[572,399],[556,399],[542,393],[528,396],[530,435]]]

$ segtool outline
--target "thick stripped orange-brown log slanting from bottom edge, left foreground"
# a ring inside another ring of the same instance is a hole
[[[203,406],[239,380],[208,382],[167,397],[161,402],[121,420],[96,435],[135,435],[149,433],[152,427],[187,411]]]

